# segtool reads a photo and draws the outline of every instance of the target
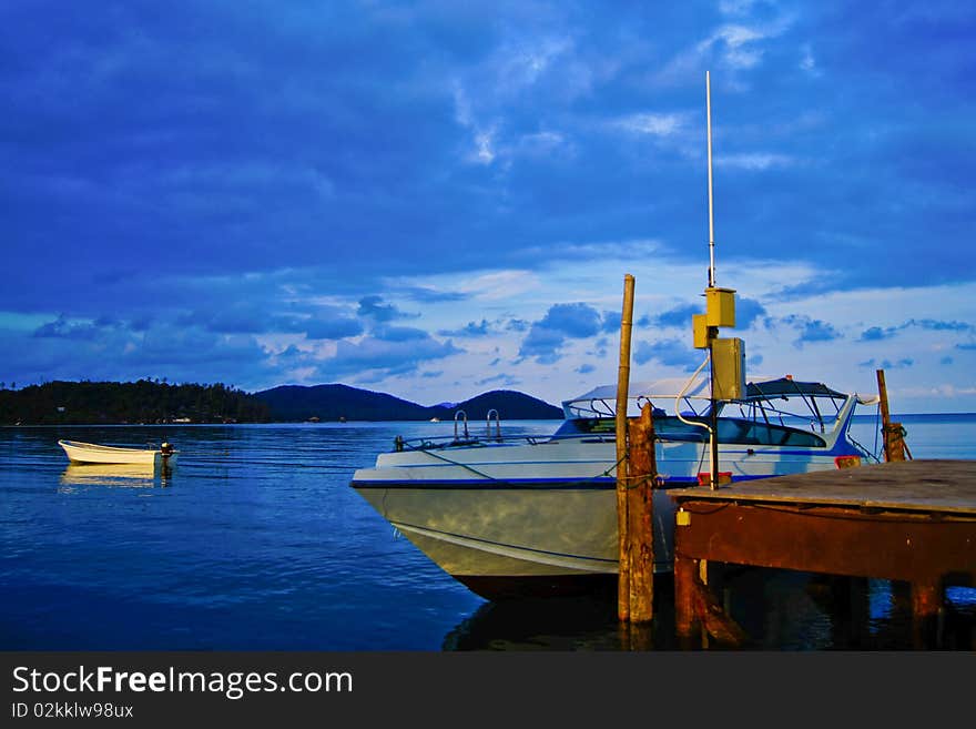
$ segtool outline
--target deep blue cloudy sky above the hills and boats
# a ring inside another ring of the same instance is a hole
[[[0,4],[0,381],[558,404],[693,372],[976,412],[976,6]],[[504,414],[502,414],[504,416]]]

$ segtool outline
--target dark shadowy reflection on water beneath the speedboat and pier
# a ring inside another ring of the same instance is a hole
[[[723,644],[675,635],[673,580],[654,580],[654,619],[621,626],[616,596],[487,603],[445,638],[444,650],[946,650],[976,648],[976,589],[952,587],[932,645],[919,645],[911,588],[885,579],[730,569],[712,585],[745,634]]]

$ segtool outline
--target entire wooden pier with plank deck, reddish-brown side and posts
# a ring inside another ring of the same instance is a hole
[[[976,460],[892,462],[669,490],[679,636],[734,637],[709,563],[903,580],[932,647],[947,585],[976,586]]]

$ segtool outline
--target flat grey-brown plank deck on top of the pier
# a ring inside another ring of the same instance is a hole
[[[673,488],[687,498],[777,502],[976,515],[976,460],[906,460],[734,482],[715,490]]]

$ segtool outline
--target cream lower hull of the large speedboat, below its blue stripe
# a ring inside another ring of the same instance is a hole
[[[486,597],[571,593],[616,578],[613,482],[575,488],[511,483],[356,488],[441,569]],[[655,492],[658,571],[670,569],[673,514],[667,492]]]

